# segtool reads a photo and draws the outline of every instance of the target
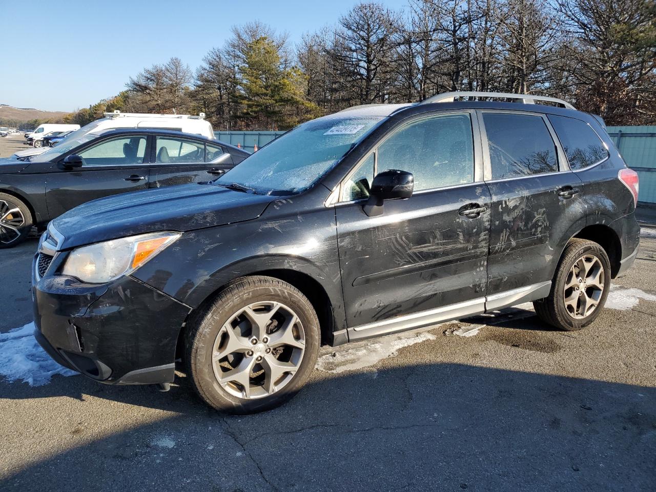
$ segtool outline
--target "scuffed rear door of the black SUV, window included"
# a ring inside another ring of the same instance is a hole
[[[585,225],[581,180],[567,160],[546,115],[478,112],[491,193],[487,309],[549,292],[569,238]],[[513,297],[515,296],[515,297]]]

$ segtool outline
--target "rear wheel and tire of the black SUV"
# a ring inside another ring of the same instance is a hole
[[[548,297],[533,302],[535,313],[558,329],[580,330],[599,316],[610,284],[611,265],[604,248],[587,239],[571,239],[558,262]]]

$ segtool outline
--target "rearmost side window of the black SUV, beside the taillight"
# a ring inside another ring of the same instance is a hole
[[[603,161],[608,151],[594,130],[580,119],[549,115],[570,169],[583,169]]]

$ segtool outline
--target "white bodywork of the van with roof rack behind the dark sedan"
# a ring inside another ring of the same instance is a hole
[[[115,111],[113,113],[104,113],[104,115],[104,118],[96,119],[96,121],[92,121],[82,128],[77,125],[79,130],[66,135],[66,138],[60,144],[66,142],[69,138],[73,139],[87,133],[98,133],[102,130],[114,128],[162,128],[184,133],[195,133],[213,140],[215,138],[212,124],[205,120],[205,113],[200,113],[198,116],[191,116],[188,114],[121,113]],[[30,155],[41,154],[45,150],[47,149],[22,150],[16,152],[14,157],[30,157]]]

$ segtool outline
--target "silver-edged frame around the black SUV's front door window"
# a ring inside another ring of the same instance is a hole
[[[341,206],[341,205],[350,205],[352,203],[358,203],[361,201],[365,201],[366,198],[360,198],[357,200],[350,200],[350,201],[340,201],[340,197],[342,196],[343,192],[343,187],[344,184],[349,180],[353,174],[356,173],[358,170],[359,165],[369,159],[371,154],[374,154],[374,168],[373,168],[373,175],[376,176],[378,173],[378,149],[379,147],[384,144],[388,138],[391,138],[394,136],[394,134],[398,133],[406,127],[407,125],[411,125],[412,123],[415,123],[416,121],[419,121],[421,119],[428,119],[430,117],[441,117],[441,116],[448,116],[448,115],[458,115],[458,114],[467,114],[469,115],[469,121],[470,125],[472,127],[472,143],[474,144],[474,180],[469,183],[460,183],[460,184],[455,184],[455,185],[445,185],[445,186],[438,186],[437,188],[428,188],[426,190],[418,190],[417,192],[413,192],[413,195],[415,194],[420,194],[424,192],[434,192],[437,190],[445,190],[445,189],[450,189],[450,188],[457,188],[459,186],[469,186],[472,184],[481,184],[483,183],[483,155],[482,155],[482,142],[480,138],[480,125],[478,122],[478,117],[476,115],[476,110],[449,110],[449,111],[438,111],[438,112],[428,112],[428,113],[420,113],[419,115],[415,115],[413,117],[410,117],[406,120],[403,120],[400,122],[400,125],[392,129],[392,132],[386,134],[383,136],[383,138],[367,152],[367,154],[363,155],[360,159],[358,159],[358,162],[352,167],[352,169],[340,180],[339,184],[333,188],[331,193],[328,195],[327,199],[324,202],[325,207],[332,207],[332,206]],[[477,138],[478,136],[478,138]]]

